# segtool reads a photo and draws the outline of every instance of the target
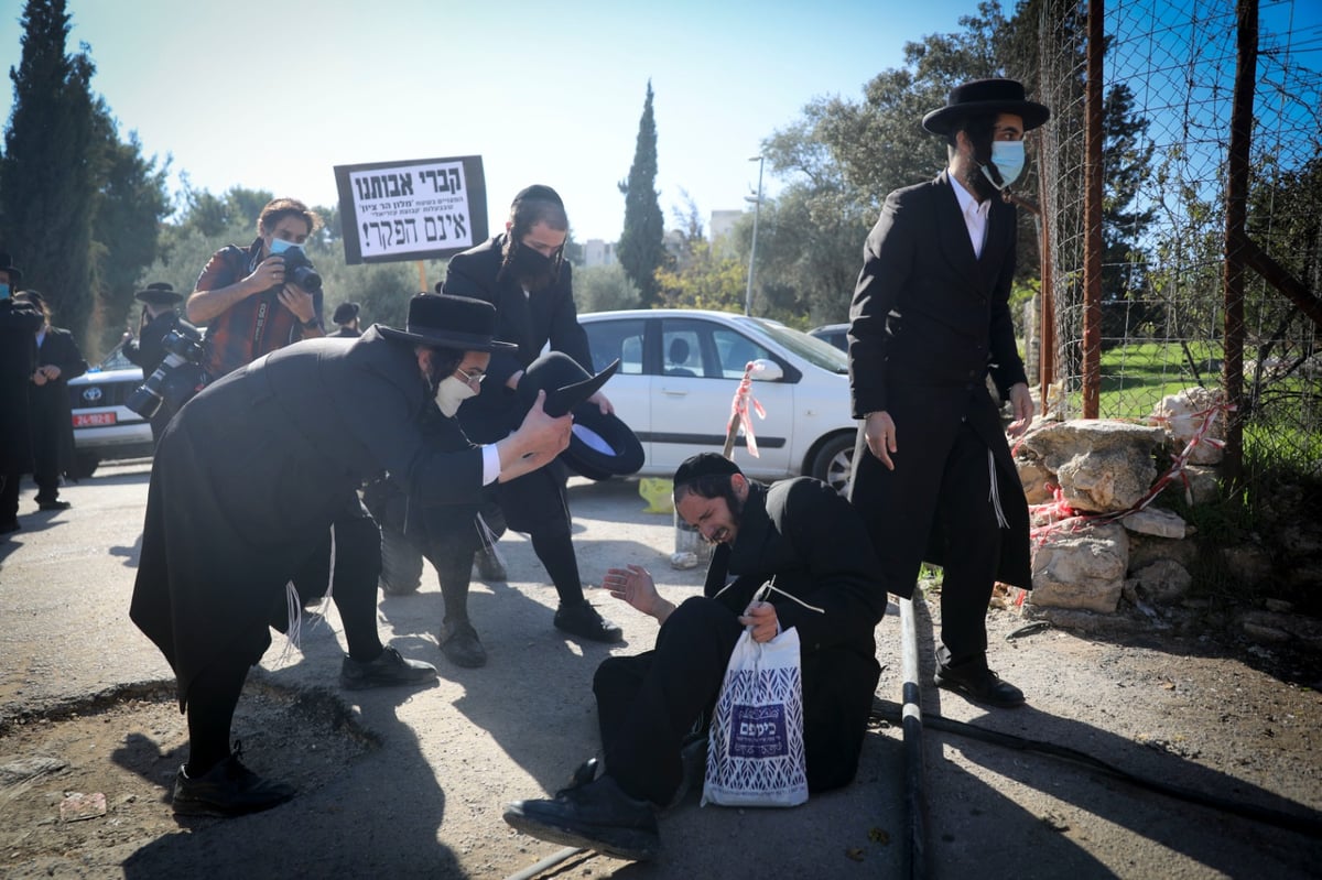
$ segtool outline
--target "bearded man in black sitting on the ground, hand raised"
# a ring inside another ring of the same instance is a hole
[[[654,858],[656,811],[682,797],[685,739],[710,719],[746,628],[758,642],[798,632],[809,790],[846,785],[858,770],[880,677],[873,632],[886,613],[886,585],[858,513],[818,480],[761,486],[711,452],[676,470],[674,506],[717,544],[703,596],[676,608],[644,568],[607,572],[612,596],[661,624],[656,647],[598,667],[605,770],[596,776],[594,758],[553,799],[509,805],[505,821],[520,831],[623,859]],[[760,600],[768,581],[773,589]]]

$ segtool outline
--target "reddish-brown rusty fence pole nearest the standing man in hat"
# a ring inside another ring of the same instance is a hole
[[[1103,0],[1088,0],[1088,82],[1084,127],[1083,418],[1096,419],[1101,395],[1101,54]]]

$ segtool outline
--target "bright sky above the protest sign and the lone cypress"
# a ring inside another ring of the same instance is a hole
[[[0,0],[0,58],[22,0]],[[906,41],[973,0],[656,4],[69,0],[69,49],[122,132],[193,186],[337,201],[333,166],[483,156],[493,219],[545,182],[575,238],[615,240],[648,79],[666,225],[687,190],[706,219],[743,209],[764,137],[816,96],[859,98]],[[0,115],[9,118],[5,83]],[[768,192],[773,181],[767,178]],[[492,231],[496,231],[494,229]]]

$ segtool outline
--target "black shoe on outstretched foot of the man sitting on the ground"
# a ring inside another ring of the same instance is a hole
[[[505,822],[539,840],[632,862],[654,859],[661,850],[652,805],[631,798],[609,776],[564,789],[551,801],[514,801],[505,807]]]

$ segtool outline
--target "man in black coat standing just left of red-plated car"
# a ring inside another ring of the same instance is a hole
[[[37,330],[37,369],[32,374],[32,478],[37,484],[37,507],[67,510],[59,498],[59,481],[74,464],[73,404],[69,402],[69,379],[87,371],[87,361],[78,350],[74,334],[52,326],[50,307],[38,291],[21,291],[26,300],[41,309],[42,326]]]

